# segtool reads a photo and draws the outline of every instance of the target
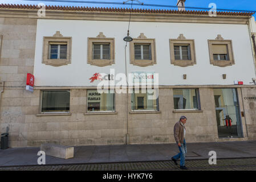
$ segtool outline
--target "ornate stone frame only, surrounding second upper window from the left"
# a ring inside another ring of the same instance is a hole
[[[96,38],[88,38],[87,46],[87,63],[98,67],[115,64],[115,38],[106,38],[103,32],[100,32]],[[93,59],[92,58],[92,44],[94,43],[109,43],[110,45],[110,59]]]

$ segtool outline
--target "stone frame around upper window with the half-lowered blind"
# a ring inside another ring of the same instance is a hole
[[[227,54],[228,54],[229,60],[214,60],[213,59],[214,52],[213,52],[212,46],[214,44],[227,46]],[[227,67],[227,66],[231,66],[231,65],[235,64],[232,40],[225,40],[224,38],[222,38],[221,35],[218,35],[217,38],[214,40],[208,39],[208,46],[209,46],[210,64],[213,64],[214,66],[218,66],[218,67]]]

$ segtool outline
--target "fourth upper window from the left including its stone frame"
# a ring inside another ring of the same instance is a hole
[[[180,34],[177,39],[169,39],[170,63],[180,67],[196,64],[196,52],[193,39],[186,39]]]

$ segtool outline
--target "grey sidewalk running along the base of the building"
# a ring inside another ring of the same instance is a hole
[[[256,158],[256,141],[187,143],[186,159],[209,159],[209,151],[217,158]],[[0,150],[0,167],[37,165],[39,147]],[[177,144],[133,144],[111,146],[75,146],[74,158],[46,156],[46,164],[115,163],[170,160],[178,153]]]

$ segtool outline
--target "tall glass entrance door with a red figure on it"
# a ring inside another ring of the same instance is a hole
[[[243,137],[237,90],[214,89],[215,110],[219,138]],[[228,118],[226,123],[225,119]],[[231,118],[231,126],[229,123]]]

